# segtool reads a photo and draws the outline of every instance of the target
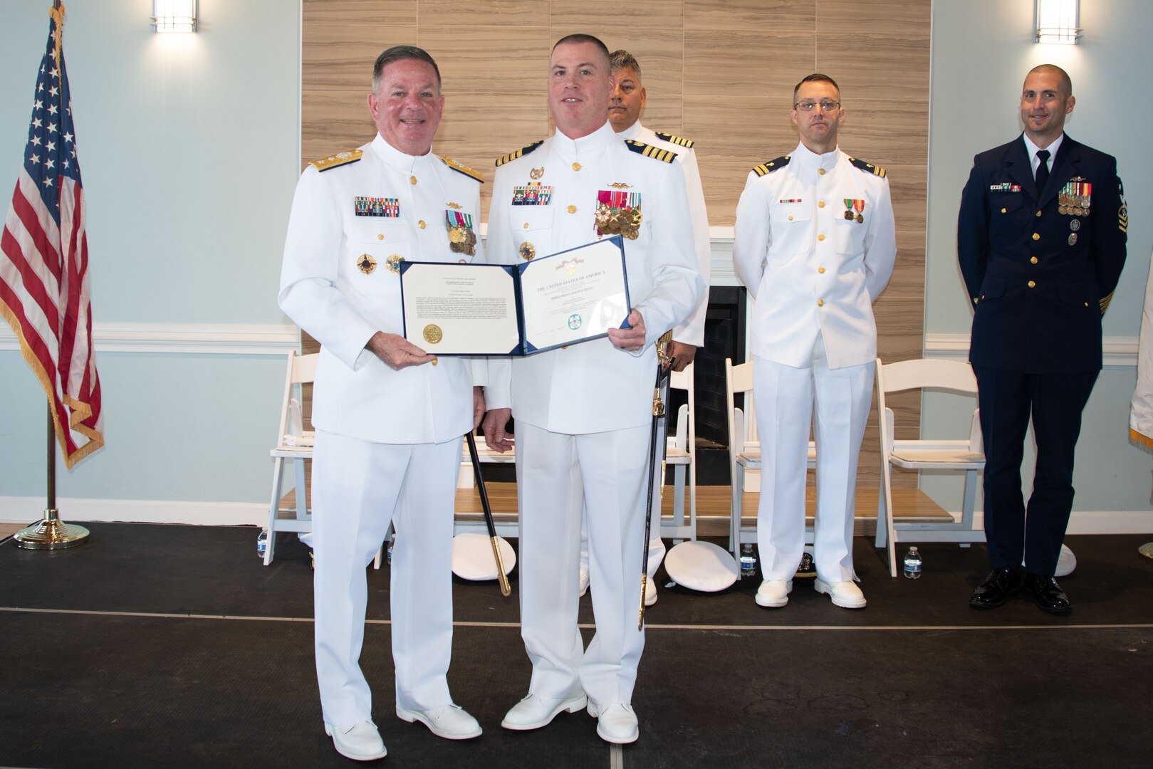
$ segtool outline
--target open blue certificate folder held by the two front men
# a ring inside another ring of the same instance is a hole
[[[532,355],[624,329],[620,235],[520,264],[401,262],[405,338],[436,355]]]

